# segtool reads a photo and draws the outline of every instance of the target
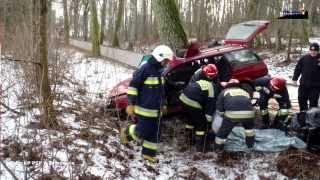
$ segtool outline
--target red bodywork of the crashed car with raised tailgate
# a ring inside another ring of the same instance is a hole
[[[235,26],[247,25],[246,23],[247,24],[253,23],[254,25],[256,25],[256,29],[248,37],[244,39],[241,39],[241,38],[228,39],[228,36],[227,36],[226,37],[227,39],[224,40],[223,46],[217,46],[217,47],[207,48],[202,50],[195,50],[195,49],[191,50],[191,51],[195,51],[196,53],[193,53],[193,52],[190,53],[190,51],[187,51],[185,55],[186,58],[175,57],[174,60],[169,63],[168,68],[164,71],[163,75],[166,77],[168,74],[170,74],[170,72],[172,72],[177,68],[180,68],[180,66],[183,66],[185,63],[194,62],[199,59],[204,59],[208,57],[222,56],[225,53],[248,49],[247,47],[249,46],[249,43],[253,40],[254,37],[256,37],[258,33],[262,32],[267,28],[269,21],[248,21],[245,23],[237,24]],[[198,46],[192,46],[191,48],[194,48],[194,47],[198,47]],[[193,54],[193,56],[187,57],[187,56],[190,56],[190,54]],[[239,66],[232,67],[232,78],[239,79],[240,82],[245,82],[245,83],[250,82],[258,77],[262,77],[267,74],[268,74],[268,69],[266,64],[263,62],[263,60],[260,60],[259,62],[256,62],[253,64],[242,64]],[[108,96],[109,106],[116,107],[121,110],[126,108],[126,106],[128,105],[128,99],[126,94],[127,94],[130,81],[131,81],[131,78],[121,81],[109,92],[109,96]],[[177,112],[179,110],[180,110],[180,107],[169,108],[169,112]]]

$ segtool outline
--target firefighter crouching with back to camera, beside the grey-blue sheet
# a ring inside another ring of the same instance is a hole
[[[253,131],[255,111],[251,104],[251,97],[248,92],[239,87],[237,79],[230,79],[228,82],[221,82],[225,89],[217,98],[217,112],[222,118],[221,124],[217,125],[214,149],[221,152],[224,143],[233,127],[241,123],[245,128],[246,144],[248,148],[254,145],[255,133]]]

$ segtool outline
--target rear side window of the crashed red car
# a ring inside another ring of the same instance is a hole
[[[226,53],[225,57],[231,65],[256,63],[259,61],[259,57],[248,49]]]

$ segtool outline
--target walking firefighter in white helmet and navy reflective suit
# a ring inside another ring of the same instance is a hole
[[[129,105],[126,112],[137,116],[138,123],[121,129],[121,143],[130,140],[142,143],[142,157],[157,162],[161,109],[164,103],[164,81],[160,70],[173,59],[173,51],[165,45],[157,46],[152,57],[134,74],[128,88]]]

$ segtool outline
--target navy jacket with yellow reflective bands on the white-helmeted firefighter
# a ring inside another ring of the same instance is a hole
[[[164,79],[161,64],[151,57],[134,74],[127,95],[137,115],[156,118],[164,103]]]

